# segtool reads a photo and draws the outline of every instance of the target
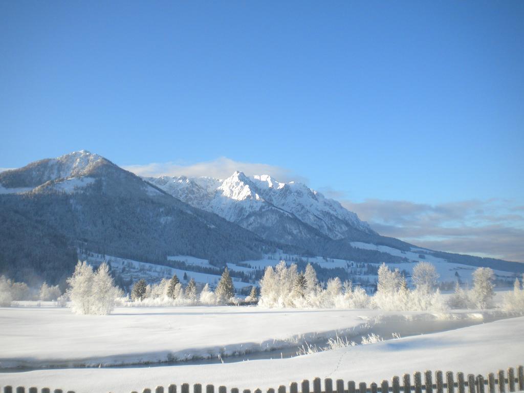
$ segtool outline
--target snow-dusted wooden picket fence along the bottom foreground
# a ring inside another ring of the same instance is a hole
[[[391,385],[389,381],[383,380],[380,385],[375,383],[367,386],[365,382],[356,384],[354,381],[344,383],[342,379],[336,381],[326,378],[322,386],[320,378],[314,378],[312,388],[310,381],[304,379],[300,384],[300,393],[506,393],[514,391],[524,391],[524,367],[518,366],[517,373],[515,369],[510,367],[507,372],[498,370],[497,373],[489,373],[487,377],[483,375],[469,374],[467,377],[464,373],[456,373],[456,376],[451,372],[446,372],[445,375],[441,371],[435,372],[435,379],[433,381],[433,373],[427,371],[425,373],[413,373],[413,384],[411,384],[411,375],[404,374],[402,379],[400,377],[391,378]],[[422,378],[424,382],[422,383]],[[14,390],[12,386],[4,386],[3,393],[26,393],[26,388],[18,386]],[[30,387],[27,389],[28,393],[38,393],[38,388]],[[40,393],[64,393],[62,389],[42,388]],[[65,393],[74,393],[68,390]],[[132,391],[131,393],[138,393]],[[169,385],[165,390],[163,386],[157,386],[154,390],[144,389],[143,393],[177,393],[177,385]],[[180,385],[180,393],[190,393],[189,384]],[[194,384],[192,393],[202,393],[202,385]],[[214,385],[206,385],[205,393],[215,393]],[[227,393],[225,386],[219,386],[218,393]],[[239,389],[231,388],[230,393],[240,393]],[[251,393],[251,390],[245,389],[242,393]],[[262,393],[261,389],[255,389],[253,393]],[[267,389],[267,393],[286,393],[286,386],[281,385],[276,390],[273,388]],[[299,393],[299,384],[292,382],[289,385],[289,393]]]

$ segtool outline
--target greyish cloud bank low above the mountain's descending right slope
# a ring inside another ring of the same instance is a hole
[[[524,262],[524,215],[507,200],[342,201],[378,233],[438,251]]]

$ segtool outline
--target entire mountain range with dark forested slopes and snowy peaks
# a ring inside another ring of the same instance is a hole
[[[362,263],[410,261],[352,242],[416,247],[380,236],[304,184],[267,175],[140,178],[85,150],[0,173],[0,274],[21,280],[63,280],[79,248],[159,265],[168,255],[191,255],[225,266],[276,249]],[[466,265],[524,269],[493,258],[427,252]]]

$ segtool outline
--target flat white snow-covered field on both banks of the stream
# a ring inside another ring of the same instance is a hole
[[[448,318],[466,316],[464,311]],[[49,386],[77,393],[138,391],[171,383],[264,389],[316,376],[369,383],[425,369],[478,374],[524,363],[524,317],[519,317],[292,358],[96,368],[294,347],[304,338],[333,336],[335,330],[366,329],[366,323],[376,319],[387,321],[395,331],[397,321],[405,318],[417,323],[434,317],[417,312],[258,307],[119,308],[105,316],[74,315],[61,308],[2,308],[0,385]],[[430,324],[421,324],[421,329]],[[6,369],[84,364],[95,368]]]

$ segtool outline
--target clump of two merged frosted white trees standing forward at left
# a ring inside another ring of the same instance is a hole
[[[105,262],[95,273],[85,261],[79,261],[73,276],[67,281],[68,296],[74,313],[105,315],[113,311],[119,290],[113,285],[113,278]]]

